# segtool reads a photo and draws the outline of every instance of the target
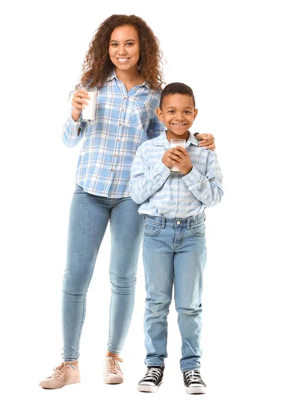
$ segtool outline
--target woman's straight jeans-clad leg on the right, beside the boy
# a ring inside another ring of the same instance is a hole
[[[134,308],[138,256],[144,217],[131,198],[112,200],[110,218],[111,259],[110,327],[107,350],[119,354],[130,327]]]

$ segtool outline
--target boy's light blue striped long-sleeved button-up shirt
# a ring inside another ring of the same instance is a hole
[[[138,148],[132,164],[130,194],[138,213],[165,218],[189,218],[222,199],[222,173],[214,151],[198,147],[189,132],[186,150],[193,168],[187,175],[171,172],[162,158],[170,148],[166,131]]]

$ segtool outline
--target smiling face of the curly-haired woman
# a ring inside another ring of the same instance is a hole
[[[134,26],[119,26],[112,32],[109,54],[118,70],[132,70],[132,68],[138,70],[140,39]]]

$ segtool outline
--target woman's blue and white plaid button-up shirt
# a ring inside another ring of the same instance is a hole
[[[130,196],[129,181],[136,150],[165,129],[156,116],[160,91],[147,82],[127,92],[116,73],[96,96],[94,121],[74,122],[68,117],[63,127],[63,142],[74,147],[82,138],[76,168],[76,184],[85,192],[108,198]]]

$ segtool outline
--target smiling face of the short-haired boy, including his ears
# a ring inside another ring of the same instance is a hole
[[[162,108],[157,109],[157,116],[167,128],[167,138],[184,139],[187,131],[194,123],[198,109],[194,108],[192,96],[183,94],[170,94],[165,96]]]

